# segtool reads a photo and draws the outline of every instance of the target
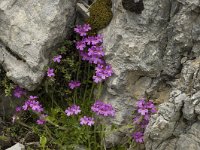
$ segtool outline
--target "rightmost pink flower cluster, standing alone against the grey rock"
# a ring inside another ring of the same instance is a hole
[[[150,116],[156,113],[156,107],[152,100],[145,101],[145,99],[141,99],[137,102],[137,115],[133,119],[134,123],[139,126],[142,131],[137,131],[133,133],[133,139],[137,143],[143,143],[144,139],[144,129],[149,123]]]

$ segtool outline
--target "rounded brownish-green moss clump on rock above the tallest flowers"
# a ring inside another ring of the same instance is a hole
[[[111,11],[111,0],[96,0],[89,9],[90,17],[86,20],[93,29],[93,32],[105,28],[112,20],[113,14]]]

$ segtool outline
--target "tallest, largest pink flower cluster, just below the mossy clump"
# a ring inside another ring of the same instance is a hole
[[[99,83],[110,77],[113,74],[113,70],[104,60],[103,36],[100,34],[87,36],[87,32],[90,30],[91,27],[88,24],[78,25],[74,28],[74,31],[82,37],[80,41],[76,42],[76,48],[79,50],[82,60],[96,65],[93,80],[95,83]]]

